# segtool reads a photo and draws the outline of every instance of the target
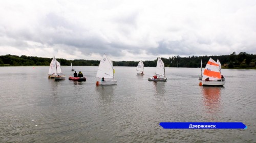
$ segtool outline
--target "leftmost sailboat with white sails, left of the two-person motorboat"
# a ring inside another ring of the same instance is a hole
[[[48,78],[55,78],[55,80],[63,80],[66,78],[65,75],[62,75],[60,63],[55,59],[54,55],[49,67]]]

